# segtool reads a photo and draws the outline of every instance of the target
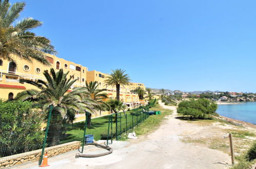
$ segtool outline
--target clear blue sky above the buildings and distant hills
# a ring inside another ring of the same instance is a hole
[[[11,1],[11,3],[19,1]],[[58,57],[170,90],[256,92],[256,1],[29,0]]]

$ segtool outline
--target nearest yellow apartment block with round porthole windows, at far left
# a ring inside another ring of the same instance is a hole
[[[78,77],[73,87],[85,86],[86,72],[88,69],[82,65],[67,61],[63,58],[58,58],[54,55],[47,55],[47,60],[50,66],[40,64],[38,61],[29,62],[16,58],[16,64],[12,61],[0,59],[0,98],[12,99],[17,93],[27,89],[35,89],[32,85],[27,83],[20,83],[20,78],[27,79],[42,79],[46,80],[43,72],[54,68],[55,71],[63,68],[64,72],[69,71],[70,76]]]

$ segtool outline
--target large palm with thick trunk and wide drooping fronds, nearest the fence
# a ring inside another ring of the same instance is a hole
[[[94,103],[86,97],[85,88],[74,88],[71,92],[68,91],[77,80],[72,80],[73,76],[67,78],[68,73],[64,73],[63,69],[57,73],[51,69],[50,74],[44,71],[47,81],[21,79],[21,82],[29,83],[38,90],[26,90],[15,97],[18,100],[35,101],[34,105],[42,108],[43,112],[49,112],[50,107],[53,107],[47,140],[49,145],[56,145],[60,142],[63,132],[62,123],[68,121],[69,111],[94,111]]]

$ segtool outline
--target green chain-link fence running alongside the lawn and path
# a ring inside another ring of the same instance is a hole
[[[133,130],[147,119],[149,117],[147,112],[155,104],[155,101],[156,99],[146,106],[137,106],[135,109],[125,111],[125,113],[119,112],[94,118],[90,127],[87,126],[86,121],[71,123],[69,118],[62,117],[60,113],[52,110],[52,108],[45,120],[42,117],[39,118],[41,121],[35,121],[38,120],[35,116],[40,116],[40,114],[30,113],[30,115],[20,117],[22,119],[19,121],[23,121],[21,123],[13,124],[11,120],[9,120],[9,123],[6,121],[1,123],[0,121],[0,167],[23,165],[27,163],[26,160],[37,161],[41,165],[47,147],[54,148],[72,141],[80,141],[82,144],[80,152],[83,152],[86,134],[93,134],[95,140],[105,139],[107,143],[111,140],[112,143],[113,138],[119,140],[123,133],[128,133],[129,130]],[[87,116],[87,120],[88,113],[85,116]],[[45,121],[46,124],[44,130],[41,130],[42,121]],[[18,131],[15,131],[14,128],[18,128]],[[19,158],[29,156],[31,151],[34,150],[39,152],[36,157],[19,161],[21,160]],[[48,156],[51,155],[48,154]],[[7,165],[6,162],[8,162]],[[31,166],[34,165],[31,162]]]

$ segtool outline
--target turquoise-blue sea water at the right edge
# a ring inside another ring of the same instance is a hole
[[[256,102],[221,104],[216,112],[221,116],[256,124]]]

